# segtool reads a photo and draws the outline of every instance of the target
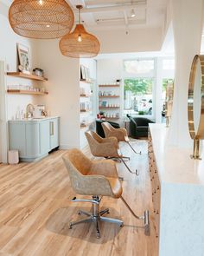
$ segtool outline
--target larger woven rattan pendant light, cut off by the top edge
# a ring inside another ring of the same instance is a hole
[[[53,39],[72,30],[74,16],[65,0],[14,0],[9,20],[20,36]]]

